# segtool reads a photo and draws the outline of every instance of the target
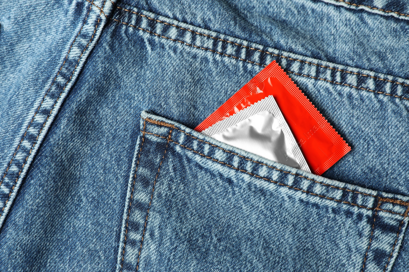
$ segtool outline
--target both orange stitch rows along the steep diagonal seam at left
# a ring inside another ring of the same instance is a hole
[[[105,5],[105,1],[104,1],[104,5]],[[92,5],[91,5],[91,7],[92,7]],[[87,13],[87,18],[88,18],[89,13],[90,13],[90,11],[88,11],[88,13]],[[0,212],[0,217],[2,216],[3,211],[4,211],[4,208],[6,207],[7,202],[8,202],[9,199],[10,199],[11,193],[13,192],[14,188],[16,187],[16,184],[17,184],[17,182],[18,182],[18,179],[20,178],[20,174],[21,174],[21,172],[23,171],[24,166],[25,166],[26,163],[27,163],[27,160],[28,160],[28,157],[29,157],[30,154],[31,154],[31,151],[34,149],[34,146],[36,146],[36,144],[37,144],[38,137],[40,136],[41,132],[43,131],[43,129],[44,129],[44,127],[45,127],[45,124],[47,123],[49,117],[51,116],[51,113],[52,113],[52,111],[54,110],[54,108],[55,108],[55,106],[56,106],[58,100],[60,99],[61,95],[62,95],[63,92],[65,91],[65,88],[67,87],[68,82],[70,82],[72,76],[74,75],[74,72],[75,72],[75,70],[76,70],[76,67],[77,67],[78,64],[79,64],[79,61],[81,60],[81,57],[82,57],[83,53],[84,53],[85,50],[88,48],[88,45],[90,44],[91,40],[94,38],[94,35],[95,35],[96,31],[97,31],[97,27],[98,27],[98,24],[99,24],[99,20],[100,20],[100,19],[101,19],[101,13],[99,14],[99,18],[98,18],[97,24],[95,24],[94,33],[92,34],[90,40],[88,41],[87,45],[85,46],[84,50],[82,51],[81,55],[79,56],[78,61],[77,61],[77,64],[75,65],[74,70],[72,71],[70,78],[67,80],[67,82],[65,82],[65,86],[64,86],[63,90],[62,90],[61,93],[58,95],[58,98],[56,99],[54,105],[52,106],[51,110],[49,111],[49,113],[48,113],[48,115],[47,115],[47,118],[45,119],[45,122],[43,123],[43,127],[42,127],[42,128],[40,129],[40,131],[38,132],[38,135],[37,135],[37,137],[36,137],[36,141],[35,141],[35,142],[33,143],[33,145],[31,146],[31,149],[30,149],[30,151],[29,151],[27,157],[25,158],[24,163],[23,163],[22,166],[21,166],[20,172],[18,172],[16,181],[14,181],[13,187],[11,188],[11,190],[10,190],[10,192],[9,192],[9,196],[7,197],[6,202],[4,202],[3,208],[2,208],[2,210],[1,210],[1,212]],[[84,23],[83,23],[83,25],[82,25],[82,27],[81,27],[79,33],[81,32],[82,28],[84,27],[85,22],[86,22],[86,19],[84,20]],[[72,48],[72,45],[74,44],[74,42],[75,42],[76,38],[78,37],[79,33],[76,35],[74,41],[72,42],[68,53],[70,52],[70,50],[71,50],[71,48]],[[68,55],[68,53],[67,53],[67,55]],[[53,83],[52,83],[52,84],[54,84],[54,82],[55,82],[55,80],[56,80],[58,74],[60,73],[61,69],[63,68],[63,65],[65,64],[65,62],[66,62],[66,60],[67,60],[67,55],[66,55],[66,57],[65,57],[65,60],[64,60],[63,64],[62,64],[61,67],[60,67],[60,70],[58,71],[57,75],[54,77],[54,80],[53,80]],[[46,94],[44,95],[43,100],[41,101],[40,106],[38,106],[36,113],[34,114],[33,118],[31,119],[30,125],[31,125],[31,123],[32,123],[33,120],[34,120],[35,115],[38,113],[39,108],[40,108],[41,105],[43,104],[44,99],[45,99],[45,97],[47,96],[47,94],[48,94],[49,90],[51,89],[51,87],[52,87],[52,85],[49,87],[49,89],[47,90]],[[30,126],[30,125],[29,125],[29,126]],[[23,135],[23,137],[22,137],[22,139],[21,139],[21,141],[20,141],[20,144],[21,144],[21,142],[23,141],[25,135],[27,134],[27,131],[28,131],[28,129],[29,129],[29,126],[27,127],[26,132],[24,133],[24,135]],[[18,148],[20,147],[20,144],[18,145]],[[16,152],[17,152],[18,148],[16,148]],[[14,156],[15,156],[15,155],[16,155],[16,153],[14,153]],[[13,156],[13,158],[11,159],[11,161],[14,159],[14,156]],[[11,162],[10,162],[10,164],[11,164]],[[9,164],[9,165],[10,165],[10,164]],[[7,170],[8,170],[8,168],[9,168],[9,167],[7,167]],[[7,173],[7,172],[6,172],[6,173]],[[3,175],[3,179],[4,179],[4,177],[6,176],[6,173]]]

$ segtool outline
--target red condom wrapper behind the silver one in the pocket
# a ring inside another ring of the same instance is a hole
[[[247,82],[195,130],[202,132],[269,95],[276,100],[310,169],[316,175],[322,175],[351,150],[275,61]]]

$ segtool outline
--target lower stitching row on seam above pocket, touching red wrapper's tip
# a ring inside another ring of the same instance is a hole
[[[184,44],[184,45],[187,45],[187,46],[195,47],[195,48],[202,49],[202,50],[205,50],[205,51],[210,51],[210,52],[212,52],[212,53],[216,53],[216,54],[219,54],[219,55],[222,55],[222,56],[225,56],[225,57],[231,57],[231,58],[234,58],[234,59],[236,59],[236,60],[241,60],[241,61],[244,61],[244,62],[249,62],[249,63],[251,63],[251,64],[256,64],[256,65],[258,65],[258,66],[262,66],[262,67],[266,67],[266,66],[267,66],[267,65],[265,65],[265,64],[261,64],[261,63],[258,63],[258,62],[253,62],[253,61],[246,60],[246,59],[243,59],[243,58],[240,58],[240,57],[236,57],[236,56],[233,56],[233,55],[228,55],[228,54],[225,54],[225,53],[222,53],[222,52],[219,52],[219,51],[215,51],[215,50],[213,50],[213,49],[196,46],[196,45],[194,45],[194,44],[189,44],[189,43],[184,42],[184,41],[181,41],[181,40],[175,40],[175,39],[172,39],[172,38],[169,38],[169,37],[160,35],[160,34],[158,34],[158,33],[155,33],[155,32],[153,32],[153,31],[144,29],[144,28],[142,28],[142,27],[137,27],[137,26],[135,26],[135,25],[133,25],[133,24],[128,24],[128,23],[126,23],[126,22],[122,22],[122,21],[117,20],[117,19],[112,19],[112,20],[114,20],[114,21],[116,21],[116,22],[119,22],[119,23],[121,23],[121,24],[125,24],[126,26],[129,26],[129,27],[134,27],[134,28],[136,28],[136,29],[139,29],[139,30],[142,30],[142,31],[146,31],[146,32],[148,32],[148,33],[150,33],[150,34],[152,34],[152,35],[157,36],[157,37],[171,40],[171,41],[173,41],[173,42],[179,42],[179,43]],[[264,52],[264,53],[267,53],[267,52],[265,52],[265,51],[263,51],[263,52]],[[276,55],[276,54],[273,54],[273,55]],[[277,56],[278,56],[278,55],[277,55]],[[290,59],[289,57],[286,57],[286,58]],[[292,59],[292,60],[294,60],[294,59]],[[348,87],[352,87],[352,88],[356,88],[356,89],[361,89],[361,90],[364,90],[364,91],[370,91],[370,92],[372,92],[372,93],[378,93],[378,94],[388,95],[388,96],[391,96],[391,97],[397,97],[397,98],[409,100],[409,98],[407,98],[407,97],[403,97],[403,96],[399,96],[399,95],[392,95],[392,94],[390,94],[390,93],[385,93],[385,92],[374,91],[374,90],[371,90],[371,89],[369,89],[369,88],[362,88],[362,87],[353,86],[353,85],[350,85],[350,84],[344,84],[344,83],[341,83],[341,82],[326,80],[326,79],[324,79],[324,78],[319,78],[319,77],[313,77],[313,76],[310,76],[310,75],[299,74],[299,73],[295,73],[295,72],[291,72],[291,71],[287,71],[287,70],[286,70],[286,72],[288,72],[288,73],[293,73],[293,74],[295,74],[295,75],[302,75],[302,76],[305,76],[305,77],[310,77],[310,78],[313,78],[313,79],[316,79],[316,80],[324,80],[324,81],[327,81],[327,82],[330,82],[330,83],[333,83],[333,84],[339,84],[339,85],[344,85],[344,86],[348,86]],[[382,79],[382,80],[383,80],[383,79]],[[396,83],[396,82],[395,82],[395,83]],[[402,84],[401,84],[401,85],[402,85]],[[408,85],[408,86],[409,86],[409,85]]]

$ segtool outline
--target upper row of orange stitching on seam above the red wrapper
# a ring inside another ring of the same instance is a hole
[[[313,62],[308,62],[308,61],[305,61],[305,60],[294,59],[292,57],[286,57],[286,56],[283,56],[283,55],[278,55],[278,54],[275,54],[275,53],[271,53],[269,51],[263,51],[263,50],[260,50],[260,49],[257,49],[257,48],[245,46],[243,44],[238,44],[236,42],[231,42],[229,40],[223,40],[223,39],[220,39],[220,38],[216,38],[216,37],[213,37],[213,36],[210,36],[210,35],[207,35],[207,34],[203,34],[203,33],[197,32],[197,31],[193,31],[191,29],[187,29],[187,28],[184,28],[184,27],[179,27],[178,25],[175,25],[175,24],[169,24],[167,22],[164,22],[164,21],[161,21],[161,20],[156,20],[156,19],[148,17],[148,16],[146,16],[144,14],[137,13],[135,11],[130,11],[128,9],[124,9],[124,8],[121,8],[121,7],[117,7],[117,9],[122,9],[122,10],[128,11],[130,13],[135,13],[135,14],[137,14],[139,16],[142,16],[142,17],[145,17],[145,18],[147,18],[149,20],[153,20],[155,22],[160,22],[162,24],[170,25],[172,27],[177,27],[179,29],[186,30],[186,31],[189,31],[191,33],[198,34],[198,35],[202,35],[202,36],[214,39],[214,40],[218,40],[218,41],[222,41],[222,42],[228,42],[228,43],[234,44],[236,46],[244,47],[244,48],[247,48],[247,49],[250,49],[250,50],[255,50],[255,51],[258,51],[258,52],[261,52],[261,53],[266,53],[266,54],[269,54],[269,55],[273,55],[275,57],[281,57],[281,58],[285,58],[285,59],[288,59],[288,60],[294,60],[294,61],[297,61],[297,62],[302,62],[302,63],[306,63],[306,64],[310,64],[310,65],[315,65],[315,66],[318,66],[318,67],[331,69],[331,70],[334,70],[334,71],[340,71],[340,72],[343,72],[343,73],[350,73],[350,74],[353,74],[353,75],[361,75],[363,77],[370,77],[370,78],[373,78],[373,79],[376,79],[376,80],[383,80],[383,81],[386,81],[386,82],[391,82],[391,83],[399,84],[399,85],[402,85],[402,86],[409,86],[409,84],[405,84],[405,83],[401,83],[401,82],[397,82],[397,81],[393,81],[393,80],[387,80],[387,79],[380,78],[380,77],[374,77],[372,75],[365,75],[365,74],[356,73],[356,72],[352,72],[352,71],[347,71],[347,70],[343,70],[343,69],[337,69],[337,68],[333,68],[333,67],[329,67],[329,66],[324,66],[324,65],[317,64],[317,63],[313,63]]]

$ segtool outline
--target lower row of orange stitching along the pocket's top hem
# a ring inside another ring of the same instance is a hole
[[[189,148],[189,147],[187,147],[187,146],[184,146],[183,144],[180,144],[180,143],[175,142],[175,141],[173,141],[173,140],[171,140],[170,142],[173,142],[173,143],[175,143],[175,144],[178,144],[178,145],[180,145],[180,146],[182,146],[182,147],[184,147],[184,148],[186,148],[186,149],[188,149],[188,150],[191,150],[192,152],[197,153],[197,154],[199,154],[199,155],[201,155],[201,156],[203,156],[203,157],[205,157],[205,158],[207,158],[207,159],[211,159],[212,161],[216,161],[216,162],[218,162],[218,163],[220,163],[220,164],[223,164],[223,165],[225,165],[225,166],[228,166],[228,167],[233,168],[233,169],[235,169],[235,170],[238,170],[238,171],[240,171],[240,172],[244,172],[244,173],[246,173],[246,174],[248,174],[248,175],[252,175],[253,177],[258,177],[258,178],[263,179],[263,180],[266,180],[266,181],[270,181],[270,182],[272,182],[272,183],[274,183],[274,184],[277,184],[277,185],[280,185],[280,186],[285,186],[285,187],[290,188],[290,189],[299,190],[299,191],[305,192],[305,193],[307,193],[307,194],[309,194],[309,195],[315,195],[315,196],[317,196],[317,197],[322,197],[322,198],[325,198],[325,199],[337,201],[337,202],[339,202],[339,203],[345,203],[345,204],[349,204],[349,205],[352,205],[352,206],[357,206],[357,207],[359,207],[359,208],[365,208],[365,209],[368,209],[368,210],[376,210],[376,211],[382,210],[382,209],[380,209],[380,208],[378,208],[378,207],[377,207],[377,208],[369,208],[369,207],[366,207],[366,206],[360,206],[360,205],[357,205],[357,204],[355,204],[355,203],[351,203],[351,202],[348,202],[348,201],[341,201],[341,200],[339,200],[339,199],[335,199],[335,198],[331,198],[331,197],[326,197],[326,196],[324,196],[324,195],[318,195],[318,194],[315,194],[315,193],[313,193],[313,192],[309,192],[309,191],[306,191],[306,190],[303,190],[303,189],[300,189],[300,188],[297,188],[297,187],[293,187],[293,186],[290,186],[290,185],[287,185],[287,184],[279,183],[278,181],[274,181],[274,180],[272,180],[272,179],[267,179],[267,178],[265,178],[265,177],[261,177],[261,176],[259,176],[259,175],[253,174],[252,172],[248,172],[248,171],[246,171],[246,170],[243,170],[243,169],[234,167],[234,166],[232,166],[232,165],[229,165],[229,164],[227,164],[227,163],[225,163],[225,162],[223,162],[223,161],[219,161],[219,160],[217,160],[217,159],[213,159],[212,157],[209,157],[209,156],[206,156],[205,154],[199,153],[198,151],[193,150],[192,148]],[[388,210],[382,210],[382,211],[384,211],[384,212],[391,212],[391,211],[388,211]],[[395,213],[395,212],[391,212],[391,213]],[[396,214],[398,214],[398,213],[396,213]],[[402,216],[403,216],[403,214],[398,214],[398,215],[402,215]]]

